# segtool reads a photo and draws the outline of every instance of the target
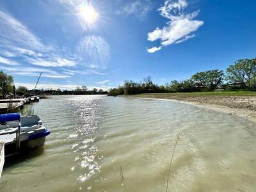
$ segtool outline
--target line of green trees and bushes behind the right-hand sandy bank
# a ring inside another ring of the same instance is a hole
[[[223,70],[207,70],[197,72],[190,79],[173,80],[164,85],[152,82],[151,77],[146,77],[141,83],[124,81],[118,88],[109,90],[109,96],[134,95],[140,93],[164,92],[211,92],[216,89],[223,90],[256,90],[256,58],[238,60]]]

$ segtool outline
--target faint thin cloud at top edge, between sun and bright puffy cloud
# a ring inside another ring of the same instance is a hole
[[[152,10],[152,5],[149,0],[136,0],[126,4],[124,8],[118,10],[116,13],[127,16],[135,15],[138,19],[144,20],[150,10]]]

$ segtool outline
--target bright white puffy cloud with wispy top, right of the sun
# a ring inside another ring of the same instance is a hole
[[[199,10],[193,13],[186,13],[185,10],[188,7],[186,0],[166,0],[164,6],[160,7],[159,13],[161,16],[168,19],[167,26],[164,28],[156,28],[154,31],[148,33],[148,41],[161,40],[162,46],[179,44],[193,38],[200,26],[204,24],[203,21],[194,20],[198,15]],[[147,49],[148,52],[159,51],[162,47],[152,47]]]

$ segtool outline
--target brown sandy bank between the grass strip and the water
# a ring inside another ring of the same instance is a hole
[[[150,93],[134,95],[132,97],[145,99],[172,100],[175,102],[184,102],[193,104],[221,113],[241,116],[253,122],[256,122],[256,97],[254,96],[230,96],[230,95],[189,95],[189,94],[161,94]]]

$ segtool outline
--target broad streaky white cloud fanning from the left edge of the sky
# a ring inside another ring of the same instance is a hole
[[[17,57],[31,65],[70,67],[76,65],[73,54],[53,44],[44,44],[24,24],[0,10],[0,50],[2,55]],[[7,64],[7,63],[5,63]]]

